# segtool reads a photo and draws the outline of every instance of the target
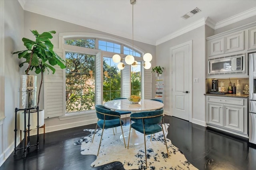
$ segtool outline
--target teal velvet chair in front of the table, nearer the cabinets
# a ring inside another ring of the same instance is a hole
[[[162,125],[164,110],[154,110],[154,111],[142,111],[138,113],[132,113],[130,115],[131,122],[134,123],[130,124],[130,132],[131,128],[135,129],[136,131],[144,134],[144,147],[145,147],[145,158],[146,158],[146,166],[147,166],[147,150],[146,150],[146,135],[152,135],[154,133],[162,131],[164,134],[164,129]],[[159,125],[161,124],[161,126]],[[129,149],[129,142],[130,142],[130,133],[128,138],[128,147]],[[167,155],[169,157],[168,147],[166,143],[166,138],[164,135],[164,142],[166,145]]]

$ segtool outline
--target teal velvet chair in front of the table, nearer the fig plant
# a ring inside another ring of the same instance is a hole
[[[104,129],[114,128],[114,127],[119,127],[120,126],[121,130],[122,130],[122,135],[124,136],[124,132],[123,132],[123,128],[122,128],[122,125],[124,124],[124,122],[121,120],[120,113],[118,113],[116,111],[112,111],[112,110],[110,110],[110,109],[108,109],[108,108],[106,108],[102,105],[96,105],[95,106],[95,111],[96,111],[98,121],[96,123],[94,135],[96,133],[97,126],[99,126],[102,129],[102,134],[101,134],[101,137],[100,137],[100,144],[101,144],[101,141],[102,141],[102,136],[103,136]],[[114,133],[114,129],[113,129],[113,133]],[[92,142],[93,142],[93,139],[94,139],[94,135],[92,137]],[[115,135],[115,133],[114,133],[114,135]],[[99,151],[100,151],[100,144],[99,144],[97,156],[98,156]],[[126,148],[125,140],[124,140],[124,147]]]

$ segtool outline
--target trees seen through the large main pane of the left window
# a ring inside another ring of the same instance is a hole
[[[95,56],[66,53],[66,112],[93,109]],[[92,70],[92,77],[89,71]]]

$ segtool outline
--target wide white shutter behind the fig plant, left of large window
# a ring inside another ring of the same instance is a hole
[[[60,49],[54,51],[62,57]],[[41,91],[40,94],[44,95],[44,118],[58,117],[65,113],[65,69],[61,69],[58,65],[54,68],[56,69],[54,74],[51,70],[49,74],[47,70],[44,72],[44,92]]]

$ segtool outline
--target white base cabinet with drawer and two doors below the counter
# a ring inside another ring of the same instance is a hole
[[[207,126],[248,138],[248,98],[206,96]]]

